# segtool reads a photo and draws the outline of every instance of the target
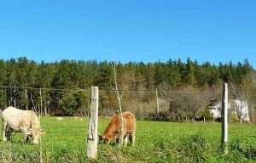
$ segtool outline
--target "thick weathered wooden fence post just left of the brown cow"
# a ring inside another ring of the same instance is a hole
[[[98,103],[99,91],[98,87],[91,87],[91,104],[88,121],[88,136],[87,136],[87,157],[89,160],[95,160],[97,156],[98,143]]]

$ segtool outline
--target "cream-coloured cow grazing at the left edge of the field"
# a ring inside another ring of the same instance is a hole
[[[22,132],[25,142],[32,137],[32,143],[38,144],[42,135],[38,116],[32,110],[18,110],[9,106],[2,112],[3,122],[3,141],[10,139],[10,135],[6,138],[7,130],[11,132]]]

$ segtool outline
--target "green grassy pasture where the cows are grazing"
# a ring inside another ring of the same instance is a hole
[[[109,119],[101,118],[99,132]],[[42,158],[44,162],[87,162],[85,155],[87,120],[43,117]],[[137,121],[135,147],[122,149],[120,162],[256,162],[255,124],[230,124],[228,155],[222,155],[220,123],[173,123]],[[15,133],[12,143],[0,138],[1,162],[39,162],[40,146],[22,143]],[[99,144],[96,162],[118,162],[116,145]]]

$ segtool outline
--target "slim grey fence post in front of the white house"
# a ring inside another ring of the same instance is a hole
[[[221,143],[224,150],[224,154],[228,153],[228,106],[229,106],[229,93],[228,93],[228,83],[224,83],[223,87],[223,97],[222,97],[222,137]]]

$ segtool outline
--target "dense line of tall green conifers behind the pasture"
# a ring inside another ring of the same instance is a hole
[[[0,59],[0,107],[15,105],[23,110],[40,110],[45,115],[86,114],[84,109],[90,104],[90,86],[98,86],[102,91],[100,113],[108,114],[117,108],[111,64],[108,61],[77,60],[38,63],[24,57]],[[116,69],[119,89],[127,92],[124,100],[137,99],[138,103],[149,104],[154,99],[156,87],[160,92],[198,92],[217,90],[223,82],[229,82],[234,87],[234,95],[254,90],[255,71],[247,59],[236,64],[228,62],[218,65],[210,62],[199,64],[192,59],[185,62],[181,59],[154,63],[129,62],[117,63]],[[38,89],[29,87],[49,89],[42,89],[40,96]],[[41,99],[43,105],[40,104]]]

